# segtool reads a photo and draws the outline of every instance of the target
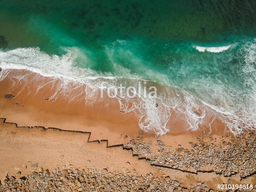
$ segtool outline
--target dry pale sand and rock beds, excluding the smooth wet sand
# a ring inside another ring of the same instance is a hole
[[[90,135],[0,119],[0,191],[256,191],[255,132],[175,146],[145,135],[109,145]]]

